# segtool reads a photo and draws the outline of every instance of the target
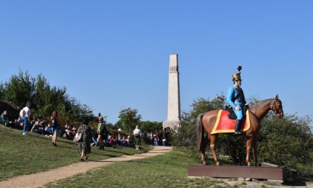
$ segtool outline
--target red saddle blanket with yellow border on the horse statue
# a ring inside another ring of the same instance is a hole
[[[236,119],[230,119],[228,117],[229,112],[225,109],[221,109],[217,114],[217,119],[211,134],[221,132],[235,132]],[[240,130],[247,131],[250,128],[249,109],[246,111],[247,117],[243,118],[240,123]]]

